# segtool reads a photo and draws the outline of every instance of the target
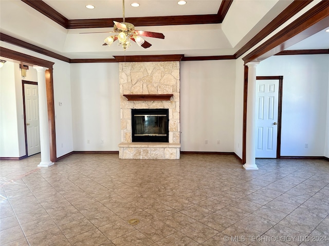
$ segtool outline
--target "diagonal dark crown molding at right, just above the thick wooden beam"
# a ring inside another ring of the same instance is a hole
[[[280,27],[283,23],[285,23],[288,19],[293,17],[295,14],[297,14],[310,3],[312,3],[312,1],[295,0],[287,8],[285,8],[277,17],[275,17],[266,27],[264,27],[259,33],[257,33],[253,38],[251,38],[249,42],[247,42],[247,44],[245,44],[240,50],[238,50],[234,54],[234,57],[238,58],[243,55],[245,52],[250,50],[259,42],[261,42],[261,40],[267,37],[271,32],[275,31],[278,27]]]

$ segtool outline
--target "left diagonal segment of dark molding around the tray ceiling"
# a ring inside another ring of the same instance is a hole
[[[45,2],[41,0],[22,0],[33,9],[39,11],[40,13],[46,15],[48,18],[52,19],[57,24],[61,25],[64,28],[67,28],[68,19],[62,14],[51,8]]]

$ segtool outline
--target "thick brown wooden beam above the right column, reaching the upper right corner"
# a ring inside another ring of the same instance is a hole
[[[242,59],[245,64],[250,61],[262,61],[323,30],[328,23],[329,1],[321,1]]]

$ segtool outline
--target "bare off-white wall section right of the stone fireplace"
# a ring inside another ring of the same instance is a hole
[[[180,150],[234,152],[235,60],[182,61],[180,84]]]

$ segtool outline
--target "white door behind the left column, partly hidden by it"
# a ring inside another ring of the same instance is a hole
[[[27,156],[39,153],[40,128],[39,128],[39,100],[38,86],[24,84]]]

